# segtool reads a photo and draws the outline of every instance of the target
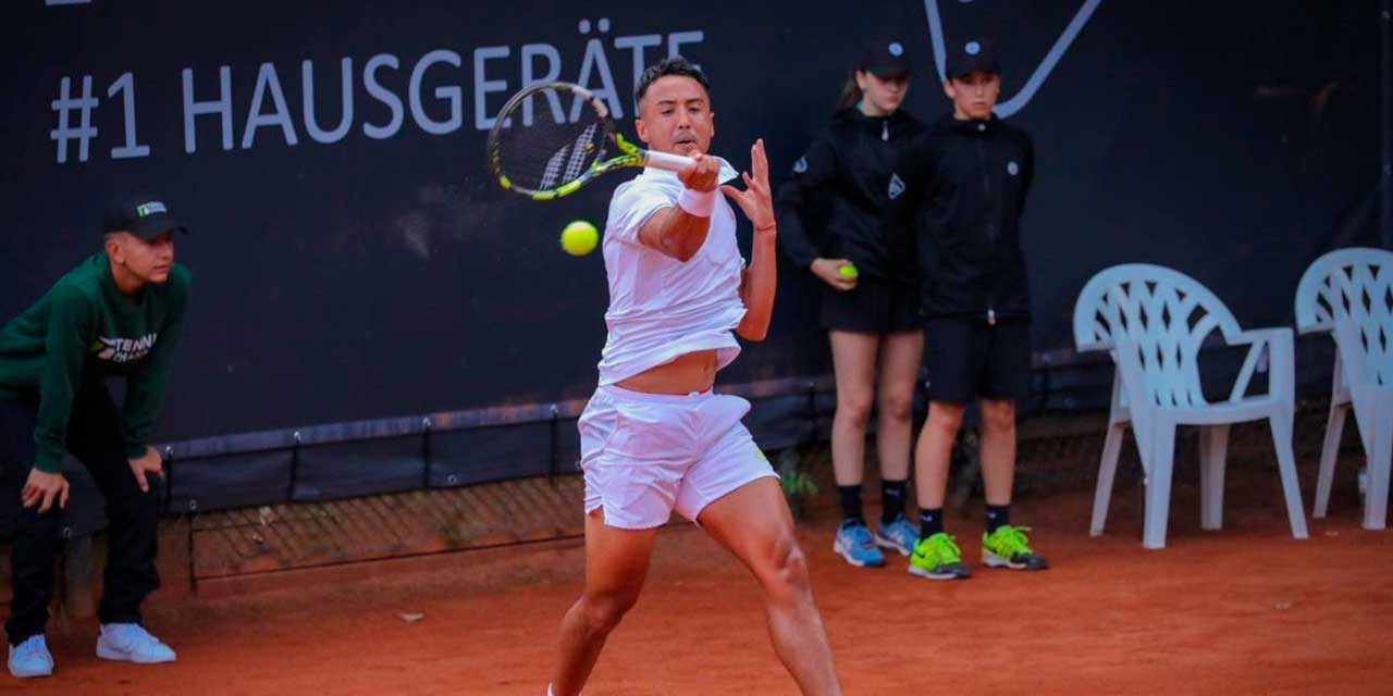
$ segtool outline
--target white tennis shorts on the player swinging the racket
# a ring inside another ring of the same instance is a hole
[[[710,391],[599,387],[579,420],[585,514],[603,508],[620,529],[664,525],[673,509],[695,522],[716,498],[777,477],[740,422],[748,412],[748,401]]]

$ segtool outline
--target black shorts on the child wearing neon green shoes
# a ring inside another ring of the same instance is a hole
[[[1031,323],[935,317],[924,324],[929,401],[1025,401],[1031,395]]]

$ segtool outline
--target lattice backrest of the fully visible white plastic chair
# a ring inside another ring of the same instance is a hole
[[[1080,351],[1135,351],[1144,397],[1159,406],[1205,405],[1198,355],[1215,330],[1241,330],[1229,308],[1194,278],[1146,263],[1113,266],[1084,285],[1074,305]],[[1117,355],[1119,362],[1127,356]],[[1133,398],[1142,395],[1134,394]]]

